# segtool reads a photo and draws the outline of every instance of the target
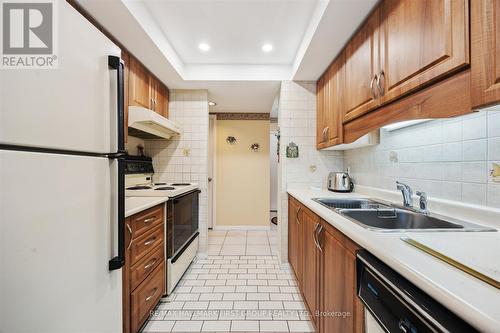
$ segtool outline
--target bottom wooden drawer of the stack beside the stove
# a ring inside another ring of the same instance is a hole
[[[163,295],[165,286],[165,263],[154,269],[151,275],[130,295],[132,307],[132,332],[138,332],[148,318],[149,312]]]

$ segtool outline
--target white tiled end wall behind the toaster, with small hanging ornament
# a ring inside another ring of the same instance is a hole
[[[278,111],[280,128],[280,163],[278,165],[278,228],[280,259],[287,261],[287,220],[289,186],[326,186],[330,171],[344,168],[343,154],[336,151],[316,150],[316,83],[281,82]],[[299,146],[299,158],[286,158],[286,146],[291,142]]]

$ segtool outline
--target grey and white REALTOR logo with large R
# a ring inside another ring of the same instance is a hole
[[[0,0],[2,68],[55,68],[57,0]]]

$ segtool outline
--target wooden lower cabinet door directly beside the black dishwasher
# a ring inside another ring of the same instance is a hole
[[[320,332],[363,332],[363,305],[357,297],[357,246],[327,227],[318,236],[321,244],[320,308],[325,313],[349,313],[348,317],[322,316]]]

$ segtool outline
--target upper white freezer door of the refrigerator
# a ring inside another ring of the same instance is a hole
[[[0,71],[0,144],[110,153],[117,150],[120,49],[58,1],[59,67]]]

